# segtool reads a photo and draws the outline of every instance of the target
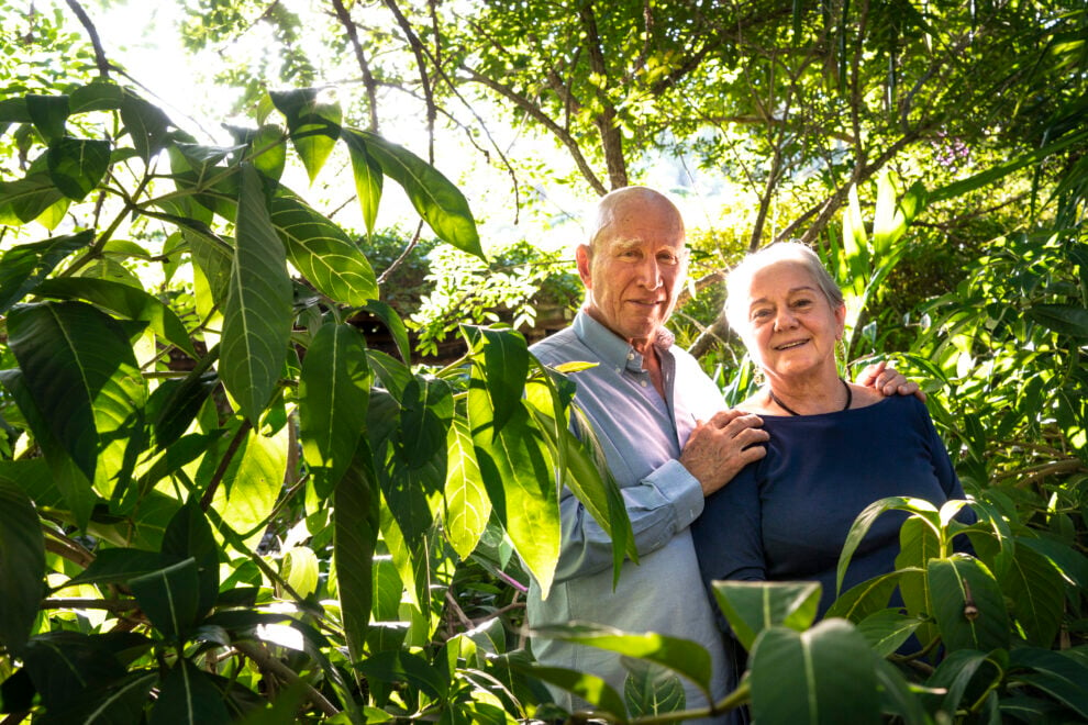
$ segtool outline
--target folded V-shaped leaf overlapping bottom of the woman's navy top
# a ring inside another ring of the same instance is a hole
[[[722,613],[747,650],[764,629],[780,625],[807,629],[820,606],[815,581],[714,581],[712,585]]]

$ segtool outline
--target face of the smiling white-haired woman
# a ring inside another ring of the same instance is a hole
[[[835,370],[845,317],[802,265],[779,261],[752,278],[744,342],[768,379],[796,382]]]

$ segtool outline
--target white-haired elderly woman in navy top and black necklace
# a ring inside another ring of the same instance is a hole
[[[741,410],[770,434],[767,455],[707,499],[692,525],[706,581],[819,581],[819,615],[835,599],[839,555],[854,518],[878,499],[964,498],[925,405],[884,398],[839,375],[842,291],[802,244],[746,257],[728,281],[725,315],[766,384]],[[877,518],[843,591],[895,569],[904,513]],[[964,509],[962,521],[974,521]]]

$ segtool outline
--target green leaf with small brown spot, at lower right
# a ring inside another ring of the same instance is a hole
[[[948,651],[1008,649],[1009,615],[993,575],[981,561],[956,555],[925,569],[929,612]]]

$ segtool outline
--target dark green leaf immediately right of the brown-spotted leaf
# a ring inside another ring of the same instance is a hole
[[[1048,648],[1057,636],[1065,609],[1062,573],[1033,548],[1018,546],[998,580],[1028,642]]]

